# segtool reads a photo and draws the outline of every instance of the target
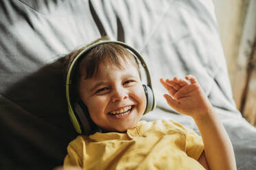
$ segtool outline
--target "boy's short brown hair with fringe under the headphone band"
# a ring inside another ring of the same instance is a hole
[[[100,42],[101,40],[109,40],[107,36],[99,38],[91,44],[81,47],[80,49],[76,49],[69,53],[66,58],[66,68],[65,68],[65,76],[67,76],[67,72],[69,71],[69,67],[71,66],[72,61],[75,59],[78,54],[89,47],[90,45],[95,44],[96,42]],[[139,71],[139,63],[137,58],[130,53],[125,47],[121,45],[117,45],[115,43],[106,43],[102,45],[97,45],[93,49],[89,50],[84,54],[80,59],[78,59],[77,64],[75,66],[75,73],[72,79],[71,93],[74,99],[78,99],[78,84],[80,82],[81,71],[86,73],[86,79],[91,78],[97,75],[99,70],[99,65],[101,62],[108,62],[110,64],[115,64],[116,66],[122,68],[121,61],[127,63],[127,61],[131,61],[132,64],[138,70],[139,76],[141,77],[141,73]]]

